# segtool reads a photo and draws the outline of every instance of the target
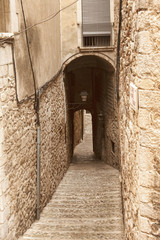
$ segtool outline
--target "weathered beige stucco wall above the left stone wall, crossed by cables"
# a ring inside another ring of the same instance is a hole
[[[17,1],[19,31],[22,31],[15,36],[19,100],[34,94],[34,85],[41,87],[61,68],[60,14],[57,14],[59,10],[59,0],[23,0],[23,5]],[[25,25],[29,27],[28,40],[24,31]]]

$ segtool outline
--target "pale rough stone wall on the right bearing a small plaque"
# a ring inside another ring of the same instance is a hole
[[[160,239],[160,3],[124,0],[120,139],[127,240]],[[139,110],[130,105],[130,83]]]

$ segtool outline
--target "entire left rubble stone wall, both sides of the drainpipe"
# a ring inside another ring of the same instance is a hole
[[[0,239],[16,240],[36,217],[36,114],[34,97],[17,103],[11,46],[0,55]],[[64,103],[60,76],[41,89],[41,210],[69,165]]]

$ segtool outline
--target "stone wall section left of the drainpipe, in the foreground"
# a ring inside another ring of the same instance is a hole
[[[18,105],[11,46],[0,48],[0,239],[16,239],[35,218],[36,118]]]

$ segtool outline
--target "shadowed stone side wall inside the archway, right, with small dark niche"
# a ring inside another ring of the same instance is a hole
[[[119,126],[118,109],[116,103],[116,83],[115,73],[108,73],[103,83],[104,102],[104,161],[120,169],[120,146],[119,146]]]

